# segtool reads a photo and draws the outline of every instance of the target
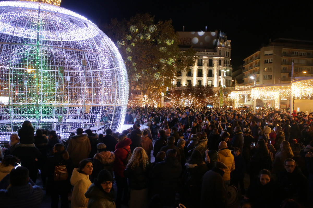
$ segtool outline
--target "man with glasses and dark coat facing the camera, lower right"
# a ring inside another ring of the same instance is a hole
[[[293,159],[287,158],[284,162],[285,170],[278,175],[278,183],[283,188],[285,198],[293,199],[305,205],[307,200],[307,179],[301,173]]]

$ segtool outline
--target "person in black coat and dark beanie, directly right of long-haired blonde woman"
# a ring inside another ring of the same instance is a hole
[[[181,183],[182,166],[176,156],[176,149],[167,150],[164,161],[156,163],[150,173],[152,181],[151,196],[158,194],[161,198],[162,207],[174,206],[175,195]]]

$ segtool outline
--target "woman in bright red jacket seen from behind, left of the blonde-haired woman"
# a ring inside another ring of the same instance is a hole
[[[128,193],[128,185],[127,178],[124,177],[124,170],[126,169],[126,157],[128,152],[131,151],[130,145],[131,140],[126,137],[125,134],[118,135],[117,144],[115,146],[115,162],[113,166],[113,171],[116,180],[117,187],[117,199],[116,199],[116,207],[120,207],[120,202],[123,204],[127,204],[127,193]],[[122,199],[123,196],[123,200]]]

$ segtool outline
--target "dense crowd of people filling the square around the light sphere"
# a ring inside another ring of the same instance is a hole
[[[61,138],[25,121],[0,148],[1,207],[40,207],[42,189],[51,207],[227,207],[230,185],[240,207],[312,206],[312,113],[145,106],[125,123]]]

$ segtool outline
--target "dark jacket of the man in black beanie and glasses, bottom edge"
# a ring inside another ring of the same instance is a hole
[[[89,199],[87,208],[115,208],[115,202],[111,192],[105,192],[102,186],[98,184],[97,179],[90,185],[85,193],[85,197]]]

